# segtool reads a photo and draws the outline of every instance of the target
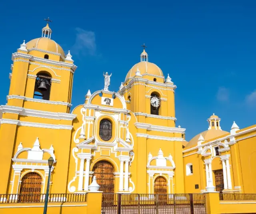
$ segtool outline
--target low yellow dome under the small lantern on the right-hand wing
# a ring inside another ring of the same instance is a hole
[[[200,135],[203,136],[205,141],[208,141],[210,139],[214,139],[214,138],[220,137],[222,135],[226,135],[226,134],[229,134],[229,132],[223,131],[223,130],[220,130],[220,129],[209,129],[209,130],[203,131],[203,132],[199,133],[198,135],[196,135],[195,137],[193,137],[188,142],[185,149],[190,149],[192,147],[197,146],[197,142],[198,142],[198,139],[199,139]]]

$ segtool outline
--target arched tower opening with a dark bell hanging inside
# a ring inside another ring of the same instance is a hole
[[[48,72],[42,71],[38,73],[36,77],[33,98],[49,100],[51,84],[52,84],[52,76]]]

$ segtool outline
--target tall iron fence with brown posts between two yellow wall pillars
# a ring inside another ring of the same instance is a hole
[[[102,214],[206,214],[205,195],[103,193]]]

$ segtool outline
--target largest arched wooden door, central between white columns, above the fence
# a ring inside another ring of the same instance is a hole
[[[92,171],[97,178],[97,183],[100,185],[99,191],[104,193],[114,193],[114,167],[108,161],[99,161],[94,166]]]

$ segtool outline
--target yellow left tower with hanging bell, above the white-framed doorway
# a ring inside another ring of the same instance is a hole
[[[40,170],[36,159],[29,156],[22,157],[20,171],[13,163],[13,155],[21,147],[32,148],[34,139],[40,140],[41,148],[52,151],[54,147],[57,161],[64,168],[68,167],[66,157],[69,155],[72,120],[75,118],[70,113],[70,107],[76,65],[70,52],[65,54],[61,46],[52,40],[48,24],[51,21],[49,18],[46,21],[40,38],[28,43],[24,40],[17,52],[12,54],[7,104],[0,106],[1,193],[19,192],[18,186],[15,189],[8,185],[19,179],[16,175],[26,173],[29,168],[27,162]],[[61,151],[61,156],[58,156],[58,151]],[[62,182],[61,176],[65,178],[65,173],[67,177],[67,172],[63,171],[52,179]],[[60,192],[66,191],[65,182],[64,179]]]

